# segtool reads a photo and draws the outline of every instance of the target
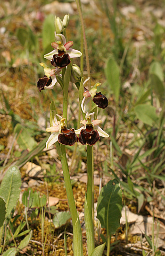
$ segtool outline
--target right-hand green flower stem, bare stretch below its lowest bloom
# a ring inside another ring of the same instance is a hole
[[[91,219],[91,234],[92,234],[92,250],[95,247],[94,241],[94,201],[93,201],[93,154],[92,154],[92,146],[87,145],[87,173],[88,173],[88,181],[87,181],[87,205],[89,209],[90,219]],[[91,251],[92,251],[91,250]],[[90,255],[90,253],[89,253]]]

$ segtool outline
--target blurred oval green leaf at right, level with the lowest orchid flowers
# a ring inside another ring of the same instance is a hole
[[[140,104],[134,108],[137,118],[139,118],[144,124],[152,126],[157,122],[158,116],[156,108],[147,104]]]

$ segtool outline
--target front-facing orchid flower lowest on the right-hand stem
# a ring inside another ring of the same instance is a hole
[[[80,121],[80,124],[83,124],[83,126],[80,129],[75,130],[75,134],[79,134],[78,140],[82,145],[94,145],[97,141],[99,141],[99,136],[105,138],[109,137],[107,132],[104,132],[99,127],[99,124],[101,124],[102,121],[98,119],[94,120],[94,112],[90,114],[86,113],[85,118],[86,120]]]

